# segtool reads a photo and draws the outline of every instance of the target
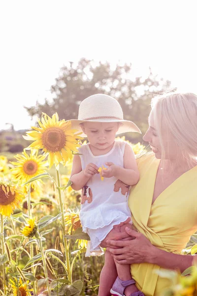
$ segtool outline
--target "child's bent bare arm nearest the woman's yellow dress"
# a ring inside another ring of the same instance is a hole
[[[127,185],[135,185],[139,180],[135,155],[129,144],[125,146],[124,168],[110,162],[107,162],[106,165],[108,165],[109,168],[107,170],[102,170],[102,176],[105,178],[114,176]]]

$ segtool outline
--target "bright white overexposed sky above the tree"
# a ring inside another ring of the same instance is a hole
[[[0,1],[0,129],[34,124],[23,106],[51,98],[67,61],[81,57],[150,66],[197,93],[196,0]]]

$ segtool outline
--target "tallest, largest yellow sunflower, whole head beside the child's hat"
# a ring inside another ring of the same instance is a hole
[[[32,127],[35,131],[27,132],[24,139],[34,141],[28,148],[42,149],[48,154],[49,168],[55,163],[58,169],[59,163],[66,165],[68,159],[72,159],[72,151],[78,152],[77,147],[80,139],[77,130],[71,129],[71,122],[65,119],[59,121],[57,113],[52,118],[42,113],[39,127]]]

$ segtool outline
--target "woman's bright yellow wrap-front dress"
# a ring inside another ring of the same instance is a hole
[[[140,179],[129,196],[132,222],[153,245],[181,254],[197,231],[197,166],[169,185],[152,204],[160,160],[148,155],[137,162]],[[159,296],[170,285],[169,280],[158,276],[156,269],[162,268],[149,263],[131,265],[132,278],[146,296]]]

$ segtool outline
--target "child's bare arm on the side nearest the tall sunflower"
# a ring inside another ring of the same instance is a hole
[[[94,163],[89,163],[85,170],[82,170],[79,155],[74,155],[70,181],[72,189],[80,190],[86,185],[88,180],[95,174],[99,174],[98,167]]]

